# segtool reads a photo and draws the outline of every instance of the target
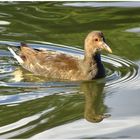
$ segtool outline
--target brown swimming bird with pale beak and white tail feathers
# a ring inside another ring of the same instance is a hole
[[[84,58],[47,50],[37,50],[21,43],[19,54],[8,48],[20,65],[35,75],[60,80],[93,80],[105,77],[101,50],[112,52],[101,31],[92,31],[85,38]]]

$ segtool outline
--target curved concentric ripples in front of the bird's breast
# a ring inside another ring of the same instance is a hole
[[[110,74],[107,75],[106,86],[116,86],[120,83],[129,82],[134,80],[138,73],[138,66],[130,61],[119,58],[118,56],[110,55],[111,57],[104,56],[105,63],[109,65],[107,67],[110,70]]]

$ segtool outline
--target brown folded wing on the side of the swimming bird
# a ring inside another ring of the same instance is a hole
[[[72,56],[53,51],[34,50],[21,47],[20,58],[24,61],[22,66],[37,74],[78,69],[78,61]]]

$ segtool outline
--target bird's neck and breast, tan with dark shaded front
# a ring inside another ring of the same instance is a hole
[[[87,75],[92,73],[92,78],[101,78],[105,76],[105,69],[101,62],[100,53],[88,54],[84,56],[85,71]]]

